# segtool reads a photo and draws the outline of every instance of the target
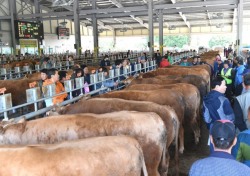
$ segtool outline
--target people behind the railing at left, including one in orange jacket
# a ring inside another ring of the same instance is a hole
[[[104,61],[107,61],[107,59],[104,59]],[[143,63],[144,61],[139,61],[138,59],[138,62]],[[132,70],[133,70],[134,64],[131,64]],[[121,86],[122,84],[121,81],[126,79],[126,75],[123,74],[123,71],[124,69],[127,69],[127,72],[129,72],[129,65],[130,65],[130,61],[127,58],[116,60],[113,65],[107,64],[105,66],[103,66],[103,62],[101,61],[100,67],[96,70],[91,70],[90,72],[88,69],[88,66],[75,64],[72,75],[68,75],[68,72],[65,70],[59,71],[55,68],[50,68],[50,69],[44,68],[40,71],[41,79],[37,82],[31,83],[30,88],[39,87],[41,95],[42,97],[44,97],[44,95],[46,94],[45,87],[50,84],[55,84],[55,93],[59,95],[53,98],[46,99],[45,102],[43,103],[43,107],[49,107],[49,106],[52,106],[57,103],[61,103],[65,100],[70,99],[70,94],[65,92],[65,85],[64,85],[65,81],[70,80],[70,79],[74,80],[75,90],[72,91],[72,97],[81,96],[83,94],[89,93],[90,91],[93,91],[94,89],[97,90],[102,87],[105,87],[106,89],[102,89],[100,90],[100,92],[95,93],[94,95],[102,94],[109,90],[116,89],[119,84]],[[110,69],[119,69],[120,76],[110,79],[109,77]],[[94,87],[94,85],[92,85],[90,81],[90,74],[98,75],[99,73],[103,73],[104,80],[96,83],[96,87]],[[83,79],[84,82],[82,83],[82,85],[84,86],[81,89],[77,89],[76,78],[81,78],[81,77],[84,78]]]

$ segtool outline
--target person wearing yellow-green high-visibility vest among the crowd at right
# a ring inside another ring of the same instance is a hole
[[[221,77],[226,81],[227,90],[225,92],[226,97],[231,102],[233,100],[232,90],[233,90],[233,80],[235,72],[232,68],[229,67],[229,62],[226,60],[223,64],[223,69],[221,70]]]

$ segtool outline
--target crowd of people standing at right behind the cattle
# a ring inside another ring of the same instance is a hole
[[[210,156],[196,161],[189,175],[249,175],[250,57],[222,61],[218,54],[213,71],[212,90],[203,99]]]

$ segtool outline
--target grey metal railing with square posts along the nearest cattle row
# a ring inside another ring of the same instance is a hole
[[[116,81],[118,83],[121,83],[122,82],[120,80],[121,77],[126,78],[128,76],[133,76],[133,75],[135,75],[137,73],[140,73],[142,71],[143,72],[149,72],[149,71],[152,71],[152,70],[156,70],[157,65],[156,65],[155,61],[148,61],[148,62],[145,62],[144,64],[141,64],[141,63],[134,64],[133,67],[134,68],[132,69],[132,66],[130,65],[128,68],[123,69],[122,70],[123,74],[120,74],[120,69],[119,68],[116,69],[116,70],[110,70],[109,71],[110,75],[109,75],[108,79],[104,78],[103,73],[91,74],[90,75],[91,83],[88,86],[89,87],[93,86],[94,90],[87,93],[87,94],[93,95],[93,94],[99,93],[100,91],[106,91],[107,88],[103,87],[103,82],[105,82],[107,80],[113,80],[113,81]],[[38,110],[37,103],[39,103],[39,102],[46,101],[48,99],[52,99],[53,97],[56,97],[58,95],[62,95],[62,94],[65,94],[65,93],[70,94],[70,99],[62,102],[60,105],[66,105],[66,104],[69,104],[69,103],[72,103],[72,102],[75,102],[75,101],[81,99],[82,96],[73,98],[72,92],[77,91],[77,90],[82,90],[84,87],[86,87],[86,85],[84,83],[82,83],[80,86],[79,85],[78,86],[73,86],[73,85],[70,85],[72,83],[68,84],[69,82],[70,82],[69,80],[65,82],[65,92],[62,92],[60,94],[55,94],[55,93],[52,93],[52,92],[55,92],[55,90],[52,90],[52,91],[49,91],[49,93],[47,93],[46,95],[44,95],[45,98],[40,98],[37,95],[37,94],[40,93],[40,88],[39,87],[32,88],[32,89],[27,89],[26,90],[26,95],[29,94],[29,95],[27,95],[27,97],[31,96],[31,98],[27,99],[27,103],[22,104],[22,105],[18,105],[18,106],[14,106],[14,107],[12,107],[12,101],[11,101],[11,98],[10,98],[11,96],[7,97],[7,94],[2,95],[2,96],[0,96],[0,114],[3,114],[4,119],[8,120],[9,119],[8,118],[8,112],[16,110],[18,108],[23,108],[23,107],[26,107],[26,106],[30,106],[30,105],[33,104],[35,111],[32,112],[32,113],[25,114],[25,115],[21,116],[21,117],[25,117],[25,118],[32,118],[32,117],[41,115],[41,114],[47,112],[48,110],[52,109],[52,106],[50,106],[50,107],[46,107],[46,108]],[[77,80],[75,82],[77,83]],[[78,80],[78,82],[79,82],[79,80]],[[98,86],[102,85],[102,86],[97,89],[97,85]],[[48,86],[50,86],[50,85],[48,85]],[[116,89],[121,89],[123,86],[118,86],[117,88],[115,88],[115,90]],[[47,88],[47,90],[50,89],[48,87],[46,87],[46,88]],[[35,89],[38,89],[38,90],[35,90]],[[9,101],[11,101],[11,103]],[[19,119],[21,117],[18,117],[17,119]]]

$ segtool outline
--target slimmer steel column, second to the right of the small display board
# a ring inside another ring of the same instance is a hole
[[[92,0],[92,9],[96,10],[96,0]],[[92,15],[92,27],[94,37],[94,58],[97,59],[99,55],[99,43],[98,43],[98,25],[96,14]]]

